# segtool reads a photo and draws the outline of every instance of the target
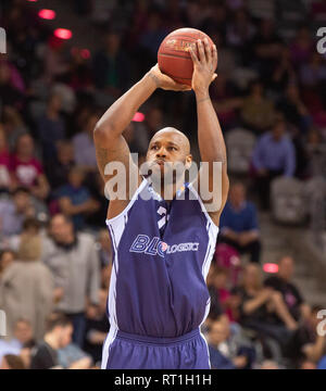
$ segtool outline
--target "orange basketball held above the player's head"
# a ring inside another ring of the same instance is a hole
[[[196,28],[179,28],[168,34],[158,52],[161,72],[177,83],[191,86],[193,63],[189,47],[197,49],[196,41],[204,38],[209,39],[211,47],[214,45],[206,34]]]

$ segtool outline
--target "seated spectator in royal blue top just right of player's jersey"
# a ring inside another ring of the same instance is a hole
[[[221,216],[220,241],[238,250],[241,254],[249,253],[251,262],[260,261],[261,242],[255,206],[246,200],[246,189],[235,184],[229,191]]]

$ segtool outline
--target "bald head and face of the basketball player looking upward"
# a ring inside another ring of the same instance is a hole
[[[175,181],[176,177],[191,164],[191,155],[185,138],[174,131],[159,133],[149,144],[147,163],[152,177],[164,179],[173,177]]]

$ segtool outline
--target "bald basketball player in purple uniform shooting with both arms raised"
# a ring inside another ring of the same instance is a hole
[[[208,213],[193,184],[180,182],[179,176],[164,182],[174,163],[184,163],[185,169],[190,166],[190,146],[188,138],[172,127],[158,131],[147,153],[151,175],[147,179],[137,177],[138,188],[128,200],[111,200],[109,205],[106,225],[114,261],[108,302],[111,328],[103,345],[102,368],[210,368],[200,325],[210,308],[205,278],[228,192],[228,177],[225,143],[209,96],[210,84],[216,77],[216,47],[201,40],[196,45],[198,54],[193,49],[190,53],[198,141],[201,160],[211,168],[210,191],[214,185],[213,162],[222,162],[222,202],[215,212]],[[189,89],[163,75],[155,65],[97,124],[97,160],[105,182],[113,177],[104,174],[109,162],[123,163],[126,178],[130,171],[135,172],[122,134],[156,88]],[[200,172],[196,179],[199,189],[201,176]],[[128,193],[130,185],[124,185]],[[162,197],[167,187],[173,189],[171,201]]]

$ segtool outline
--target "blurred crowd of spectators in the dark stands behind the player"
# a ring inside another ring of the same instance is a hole
[[[0,308],[9,335],[0,339],[1,367],[99,366],[112,263],[92,130],[155,64],[163,38],[189,26],[217,46],[211,97],[226,138],[244,129],[253,140],[241,173],[249,187],[236,180],[230,188],[208,277],[212,308],[203,331],[212,367],[325,368],[325,338],[316,332],[322,306],[308,305],[291,282],[289,256],[263,278],[256,210],[271,209],[275,178],[325,174],[326,61],[315,27],[326,21],[326,1],[72,4],[101,48],[72,47],[28,1],[1,0]],[[152,135],[171,124],[198,157],[191,92],[158,91],[141,111],[145,121],[135,118],[124,134],[139,162]]]

